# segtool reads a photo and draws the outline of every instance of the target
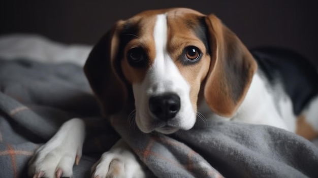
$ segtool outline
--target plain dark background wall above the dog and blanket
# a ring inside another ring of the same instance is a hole
[[[248,47],[288,47],[318,66],[318,6],[314,1],[23,0],[0,3],[0,34],[42,34],[63,43],[94,44],[110,26],[148,9],[187,7],[216,14]]]

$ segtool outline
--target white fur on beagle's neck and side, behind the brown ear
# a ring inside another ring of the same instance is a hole
[[[212,111],[209,112],[206,101],[200,105],[199,112],[207,119],[227,119],[250,124],[264,124],[294,132],[296,119],[293,115],[291,100],[287,96],[283,96],[284,99],[279,100],[281,111],[279,113],[275,108],[273,95],[265,85],[266,83],[260,75],[255,74],[242,104],[232,118],[224,118]]]

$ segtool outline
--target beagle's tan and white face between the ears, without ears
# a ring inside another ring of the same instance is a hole
[[[122,35],[133,38],[124,44],[120,67],[133,86],[136,123],[143,132],[193,127],[200,85],[210,65],[202,19],[172,11],[126,22],[134,27]]]

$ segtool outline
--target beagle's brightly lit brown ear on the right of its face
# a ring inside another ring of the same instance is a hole
[[[246,95],[257,64],[238,37],[217,17],[207,16],[206,24],[211,64],[204,96],[213,112],[231,117]]]

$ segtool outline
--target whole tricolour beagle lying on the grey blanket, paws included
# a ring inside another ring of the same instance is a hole
[[[318,133],[316,68],[289,50],[249,51],[215,15],[176,8],[120,20],[94,46],[84,70],[104,115],[132,108],[144,133],[189,130],[198,114],[271,125],[308,139]],[[71,176],[83,140],[80,119],[63,124],[36,152],[29,174]],[[70,160],[47,162],[52,152]],[[123,140],[93,170],[92,177],[146,176]]]

